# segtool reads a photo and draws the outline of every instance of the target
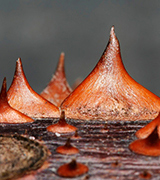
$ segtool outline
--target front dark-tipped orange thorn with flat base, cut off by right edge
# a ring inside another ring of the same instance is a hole
[[[137,154],[160,156],[160,138],[157,133],[157,127],[147,138],[133,141],[129,148]]]

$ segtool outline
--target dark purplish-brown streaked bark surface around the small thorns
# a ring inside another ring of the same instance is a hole
[[[54,120],[54,123],[57,120]],[[136,122],[106,122],[104,121],[80,121],[69,120],[68,123],[78,128],[81,139],[72,139],[80,153],[76,155],[62,155],[56,153],[56,148],[64,145],[67,138],[74,133],[64,134],[60,137],[47,132],[46,127],[52,124],[52,120],[37,120],[31,124],[0,125],[1,134],[27,134],[37,139],[44,140],[51,151],[50,166],[36,175],[37,180],[62,180],[57,175],[60,165],[68,163],[76,158],[80,163],[89,167],[89,172],[73,180],[103,180],[120,179],[136,180],[145,177],[147,173],[150,179],[160,177],[159,157],[147,157],[135,154],[128,148],[136,139],[135,132],[145,126],[149,121]],[[105,126],[104,126],[105,125]],[[105,127],[105,130],[101,131]],[[58,135],[58,134],[57,134]]]

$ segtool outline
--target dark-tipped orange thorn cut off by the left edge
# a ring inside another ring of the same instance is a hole
[[[7,100],[6,78],[3,80],[0,93],[0,123],[28,123],[33,119],[13,109]]]

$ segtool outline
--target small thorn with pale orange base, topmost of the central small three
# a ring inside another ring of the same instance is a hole
[[[48,126],[47,130],[53,133],[70,133],[76,131],[77,128],[67,124],[65,120],[65,112],[62,111],[58,123]]]

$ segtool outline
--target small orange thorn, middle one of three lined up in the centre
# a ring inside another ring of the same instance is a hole
[[[56,152],[60,154],[77,154],[79,153],[79,150],[71,145],[70,138],[68,138],[66,144],[64,146],[59,146],[56,149]]]

